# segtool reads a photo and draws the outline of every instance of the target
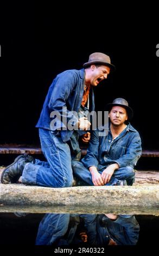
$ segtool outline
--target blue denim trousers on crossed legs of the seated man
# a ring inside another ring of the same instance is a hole
[[[74,174],[78,178],[84,180],[85,182],[87,182],[87,184],[94,186],[92,182],[92,175],[90,173],[90,170],[84,167],[84,164],[78,161],[74,161],[72,162],[72,168],[73,168]],[[104,168],[106,168],[106,166]],[[98,172],[101,174],[104,168],[102,168],[101,170],[101,166],[100,166],[100,169],[98,170]],[[127,166],[127,167],[122,167],[115,170],[109,183],[106,183],[105,186],[118,185],[120,180],[126,180],[127,185],[132,186],[133,182],[135,181],[135,172],[133,168],[130,166]]]

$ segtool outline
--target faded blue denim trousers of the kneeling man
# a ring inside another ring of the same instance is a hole
[[[72,186],[71,152],[68,144],[56,133],[39,129],[41,149],[47,162],[35,160],[35,163],[27,163],[22,174],[23,184],[45,187]]]

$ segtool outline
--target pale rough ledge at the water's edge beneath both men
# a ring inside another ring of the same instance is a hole
[[[48,188],[0,184],[0,212],[159,215],[159,185]]]

